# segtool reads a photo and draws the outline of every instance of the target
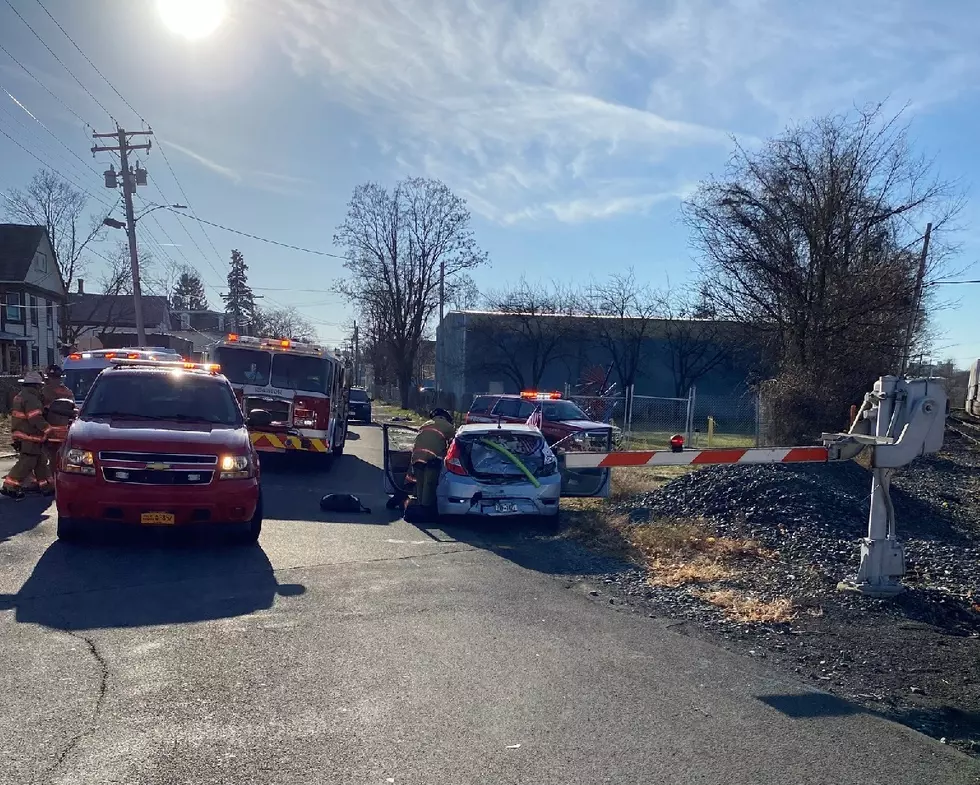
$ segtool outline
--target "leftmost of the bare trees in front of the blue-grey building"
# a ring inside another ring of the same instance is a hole
[[[485,297],[487,314],[471,317],[467,354],[477,367],[500,374],[518,389],[535,389],[548,367],[571,351],[578,297],[562,284],[521,278]]]

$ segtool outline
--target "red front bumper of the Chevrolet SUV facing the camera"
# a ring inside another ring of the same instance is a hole
[[[58,515],[87,521],[147,525],[140,516],[170,513],[175,526],[246,523],[255,515],[259,481],[218,480],[201,487],[125,486],[96,477],[58,472],[55,501]]]

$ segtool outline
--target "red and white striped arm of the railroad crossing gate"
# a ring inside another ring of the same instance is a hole
[[[614,466],[710,466],[722,463],[826,463],[828,460],[826,447],[565,453],[565,466],[569,469],[602,469]]]

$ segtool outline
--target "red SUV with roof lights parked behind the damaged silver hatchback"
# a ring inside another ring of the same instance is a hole
[[[541,408],[541,432],[550,445],[567,450],[608,449],[615,441],[614,426],[596,422],[560,393],[523,392],[520,395],[478,395],[466,413],[467,423],[523,423]]]

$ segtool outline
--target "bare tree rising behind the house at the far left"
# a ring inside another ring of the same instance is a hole
[[[88,197],[48,169],[38,171],[24,189],[14,189],[5,200],[9,220],[43,226],[48,230],[58,271],[71,291],[85,270],[83,254],[102,229],[102,221],[86,218]]]

